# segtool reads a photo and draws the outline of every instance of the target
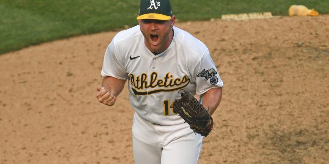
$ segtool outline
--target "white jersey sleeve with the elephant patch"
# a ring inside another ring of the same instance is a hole
[[[196,93],[201,95],[214,87],[222,87],[223,81],[220,78],[216,65],[213,62],[210,52],[206,49],[200,62],[194,69],[194,77],[196,83]]]

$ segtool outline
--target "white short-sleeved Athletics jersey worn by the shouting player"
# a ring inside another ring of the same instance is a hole
[[[173,30],[170,46],[158,55],[145,46],[138,25],[119,32],[106,49],[101,72],[104,77],[128,79],[136,113],[159,125],[184,123],[170,108],[180,89],[202,95],[223,86],[205,44],[184,30]]]

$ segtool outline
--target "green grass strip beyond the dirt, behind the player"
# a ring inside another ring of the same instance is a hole
[[[180,21],[222,14],[288,15],[292,4],[329,13],[329,0],[171,0]],[[137,24],[139,0],[0,0],[0,54],[42,42]]]

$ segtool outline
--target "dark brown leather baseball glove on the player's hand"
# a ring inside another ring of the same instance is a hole
[[[179,114],[194,132],[208,136],[213,127],[213,119],[208,110],[191,93],[185,90],[179,92],[181,98],[172,103],[173,112]]]

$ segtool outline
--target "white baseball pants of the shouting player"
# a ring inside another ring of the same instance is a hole
[[[132,133],[136,164],[197,164],[203,137],[187,123],[162,126],[135,113]]]

